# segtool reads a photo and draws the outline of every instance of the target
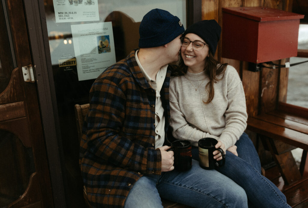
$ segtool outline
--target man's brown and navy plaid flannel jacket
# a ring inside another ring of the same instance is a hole
[[[161,174],[161,153],[155,150],[156,92],[144,78],[135,52],[106,69],[90,90],[79,164],[88,200],[95,207],[123,207],[143,174]],[[167,71],[160,92],[165,133],[169,82]]]

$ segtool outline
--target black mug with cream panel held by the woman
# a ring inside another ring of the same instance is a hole
[[[218,141],[214,138],[206,137],[198,141],[199,148],[199,165],[204,169],[214,169],[215,166],[225,165],[225,153],[219,147],[215,148]],[[218,150],[222,155],[222,161],[216,161],[213,157],[213,152]]]

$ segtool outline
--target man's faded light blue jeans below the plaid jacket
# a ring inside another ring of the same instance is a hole
[[[163,207],[160,196],[192,207],[247,207],[245,191],[216,170],[192,168],[142,176],[130,190],[125,208]]]

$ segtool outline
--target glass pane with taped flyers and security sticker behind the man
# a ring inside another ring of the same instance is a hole
[[[160,8],[186,28],[186,0],[44,0],[50,59],[67,174],[67,204],[83,203],[75,104],[89,102],[96,77],[138,48],[139,25]],[[201,4],[201,3],[200,3]]]

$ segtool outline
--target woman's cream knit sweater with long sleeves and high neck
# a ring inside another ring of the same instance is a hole
[[[221,78],[221,75],[220,77]],[[227,66],[222,80],[214,83],[214,98],[209,104],[204,72],[174,77],[170,82],[170,125],[177,139],[198,141],[213,137],[228,149],[244,132],[247,124],[245,94],[241,79],[232,66]]]

